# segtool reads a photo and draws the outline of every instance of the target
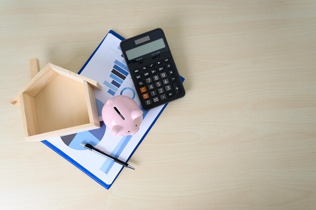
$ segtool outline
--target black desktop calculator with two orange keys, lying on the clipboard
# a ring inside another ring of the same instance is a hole
[[[120,44],[144,109],[185,95],[164,31],[160,28],[126,39]]]

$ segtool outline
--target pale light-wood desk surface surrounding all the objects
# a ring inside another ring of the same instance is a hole
[[[1,209],[315,209],[315,1],[1,1]],[[78,72],[110,29],[164,29],[187,95],[106,190],[9,99],[29,58]]]

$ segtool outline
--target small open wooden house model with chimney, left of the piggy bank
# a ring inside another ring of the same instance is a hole
[[[100,127],[93,80],[48,63],[38,72],[31,59],[31,81],[11,101],[20,104],[26,141],[42,141]]]

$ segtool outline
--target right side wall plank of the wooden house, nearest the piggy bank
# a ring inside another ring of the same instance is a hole
[[[99,115],[97,113],[97,108],[96,108],[94,89],[86,81],[83,81],[83,89],[85,91],[89,120],[90,122],[95,122],[99,124],[100,121],[99,121]]]

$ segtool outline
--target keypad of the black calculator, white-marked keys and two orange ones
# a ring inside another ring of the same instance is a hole
[[[134,73],[138,73],[134,77],[138,82],[145,106],[151,107],[156,103],[169,102],[182,93],[182,86],[179,85],[181,81],[171,59],[169,57],[161,59],[134,70]]]

